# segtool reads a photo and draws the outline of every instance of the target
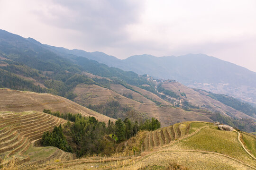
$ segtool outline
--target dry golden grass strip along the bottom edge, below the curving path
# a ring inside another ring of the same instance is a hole
[[[72,162],[52,163],[43,169],[64,170],[250,170],[249,166],[215,153],[197,153],[189,151],[161,151],[142,157],[123,160],[108,159],[101,161],[74,160]],[[148,169],[146,169],[148,168]],[[150,169],[152,168],[152,169]],[[155,169],[154,169],[155,168]],[[35,168],[36,169],[36,168]],[[179,170],[179,169],[176,169]]]

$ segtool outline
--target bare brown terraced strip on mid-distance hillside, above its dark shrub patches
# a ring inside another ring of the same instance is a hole
[[[117,86],[115,89],[119,91],[119,93],[122,93],[122,88],[125,87]],[[124,89],[123,92],[128,92],[128,90]],[[146,116],[149,118],[154,117],[158,119],[163,127],[170,126],[181,121],[212,121],[209,118],[210,114],[208,113],[185,111],[180,108],[173,108],[166,105],[160,107],[138,93],[136,96],[140,98],[137,99],[140,100],[144,98],[145,101],[150,101],[150,103],[137,102],[98,85],[77,85],[74,89],[74,93],[77,94],[74,101],[81,105],[99,105],[111,101],[118,101],[122,106],[132,107],[139,113],[144,115],[146,113]]]

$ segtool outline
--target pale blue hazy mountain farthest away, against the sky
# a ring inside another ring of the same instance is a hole
[[[148,74],[157,79],[174,79],[192,88],[213,93],[224,93],[256,104],[256,73],[205,54],[179,57],[135,55],[117,59],[102,52],[86,52],[51,47],[55,52],[78,55],[137,74]]]

